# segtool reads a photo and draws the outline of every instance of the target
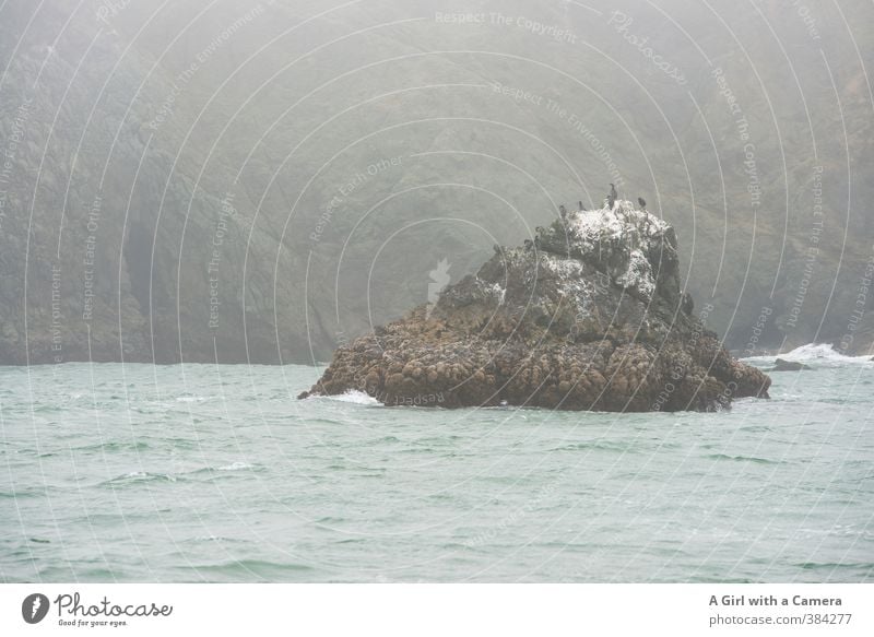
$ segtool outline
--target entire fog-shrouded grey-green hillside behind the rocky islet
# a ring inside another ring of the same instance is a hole
[[[866,353],[872,34],[861,0],[11,0],[0,363],[323,361],[610,182],[730,347]]]

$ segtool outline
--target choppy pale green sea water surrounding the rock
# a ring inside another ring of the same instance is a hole
[[[0,367],[0,581],[872,581],[874,363],[800,356],[712,414],[297,401],[305,366]]]

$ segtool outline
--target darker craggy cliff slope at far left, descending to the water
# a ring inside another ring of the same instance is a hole
[[[0,8],[0,365],[303,357],[274,328],[304,323],[274,285],[302,257],[168,141],[194,85],[126,48],[127,3],[50,4]]]

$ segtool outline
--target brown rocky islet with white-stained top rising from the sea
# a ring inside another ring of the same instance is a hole
[[[581,207],[580,207],[581,208]],[[674,228],[631,202],[567,212],[524,246],[336,350],[298,398],[387,405],[714,411],[768,398],[681,291]]]

